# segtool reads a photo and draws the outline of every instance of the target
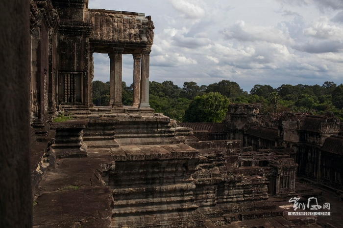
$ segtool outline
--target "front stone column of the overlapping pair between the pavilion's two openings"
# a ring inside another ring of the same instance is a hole
[[[122,103],[122,71],[123,48],[114,49],[114,104],[112,107],[123,108]]]

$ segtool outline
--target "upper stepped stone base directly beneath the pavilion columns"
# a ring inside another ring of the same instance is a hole
[[[83,142],[88,148],[198,142],[191,128],[178,127],[176,122],[162,114],[117,113],[73,117],[88,120],[87,128],[83,130]]]

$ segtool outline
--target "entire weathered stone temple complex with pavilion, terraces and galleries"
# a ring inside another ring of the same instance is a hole
[[[149,105],[150,16],[89,9],[88,0],[23,2],[26,10],[8,3],[8,12],[27,16],[18,18],[27,21],[21,34],[29,52],[20,60],[29,111],[21,118],[30,128],[13,135],[30,151],[22,175],[31,187],[17,193],[33,195],[34,228],[335,227],[288,215],[291,198],[321,204],[313,185],[342,193],[343,131],[331,113],[262,115],[257,104],[231,104],[221,124],[177,124]],[[110,58],[108,107],[92,104],[95,52]],[[133,57],[132,106],[122,104],[123,54]],[[61,111],[73,119],[52,122]]]

